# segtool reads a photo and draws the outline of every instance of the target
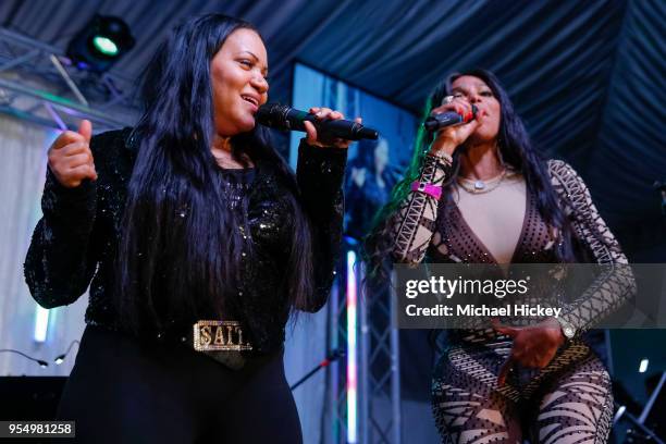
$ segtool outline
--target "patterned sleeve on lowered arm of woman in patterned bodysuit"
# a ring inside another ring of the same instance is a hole
[[[580,334],[631,298],[637,291],[636,281],[627,257],[599,214],[582,178],[562,160],[551,160],[548,170],[574,234],[594,260],[604,266],[590,287],[564,307],[563,319]]]

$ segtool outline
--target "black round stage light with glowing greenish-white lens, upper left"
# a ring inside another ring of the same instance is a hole
[[[82,70],[103,73],[134,44],[130,26],[123,20],[95,14],[70,40],[67,57]]]

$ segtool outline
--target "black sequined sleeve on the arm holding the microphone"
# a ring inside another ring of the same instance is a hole
[[[333,285],[333,272],[342,248],[345,211],[342,184],[346,163],[346,149],[311,147],[305,140],[298,147],[296,180],[312,226],[316,287],[311,306],[298,307],[305,311],[321,309]]]

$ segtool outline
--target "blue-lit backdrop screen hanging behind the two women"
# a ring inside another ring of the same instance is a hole
[[[307,111],[326,107],[345,119],[360,116],[380,133],[379,140],[361,140],[349,147],[345,177],[345,233],[360,238],[368,233],[372,217],[388,199],[391,190],[411,158],[418,119],[385,100],[297,63],[294,67],[292,106]],[[298,143],[305,133],[293,132],[289,164],[296,168]]]

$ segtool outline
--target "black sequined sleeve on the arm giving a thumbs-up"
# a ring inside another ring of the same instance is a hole
[[[24,263],[25,281],[45,308],[74,303],[85,293],[95,272],[91,232],[97,186],[84,181],[65,188],[47,169],[41,196],[42,218],[37,222]]]

